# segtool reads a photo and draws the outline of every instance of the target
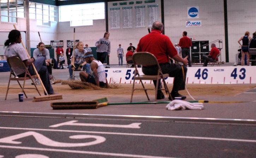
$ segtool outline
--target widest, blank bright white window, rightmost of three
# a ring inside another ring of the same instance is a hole
[[[70,22],[70,26],[93,25],[96,19],[105,19],[103,2],[59,7],[59,21]]]

